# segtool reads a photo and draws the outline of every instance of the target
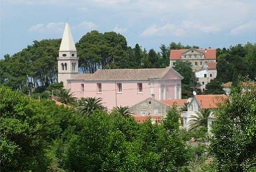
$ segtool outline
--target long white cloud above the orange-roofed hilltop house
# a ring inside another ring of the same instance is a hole
[[[215,33],[220,31],[221,28],[217,25],[207,25],[199,21],[183,21],[179,25],[167,23],[161,27],[151,25],[141,33],[142,37],[149,36],[167,36],[175,35],[177,37],[184,37],[192,33]]]

